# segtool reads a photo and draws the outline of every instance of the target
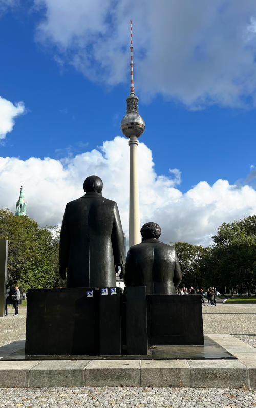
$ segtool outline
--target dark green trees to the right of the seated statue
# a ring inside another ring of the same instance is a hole
[[[247,287],[256,284],[256,215],[223,223],[208,248],[186,242],[174,244],[183,273],[181,285]]]

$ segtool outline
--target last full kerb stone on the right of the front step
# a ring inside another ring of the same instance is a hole
[[[238,360],[188,360],[192,387],[249,386],[248,368]]]

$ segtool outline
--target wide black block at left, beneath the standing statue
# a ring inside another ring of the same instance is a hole
[[[93,288],[29,289],[26,354],[97,354],[98,295]]]

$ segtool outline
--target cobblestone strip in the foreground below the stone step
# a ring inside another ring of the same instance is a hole
[[[222,388],[34,388],[0,390],[0,407],[255,407],[256,394]]]

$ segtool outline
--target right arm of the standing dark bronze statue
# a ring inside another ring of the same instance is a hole
[[[117,204],[114,205],[114,217],[113,217],[113,228],[112,228],[112,248],[113,248],[113,255],[114,255],[114,263],[116,269],[118,266],[121,266],[122,272],[124,272],[124,264],[125,264],[125,249],[124,249],[124,239],[123,239],[123,229],[122,224],[119,216],[119,211]]]

